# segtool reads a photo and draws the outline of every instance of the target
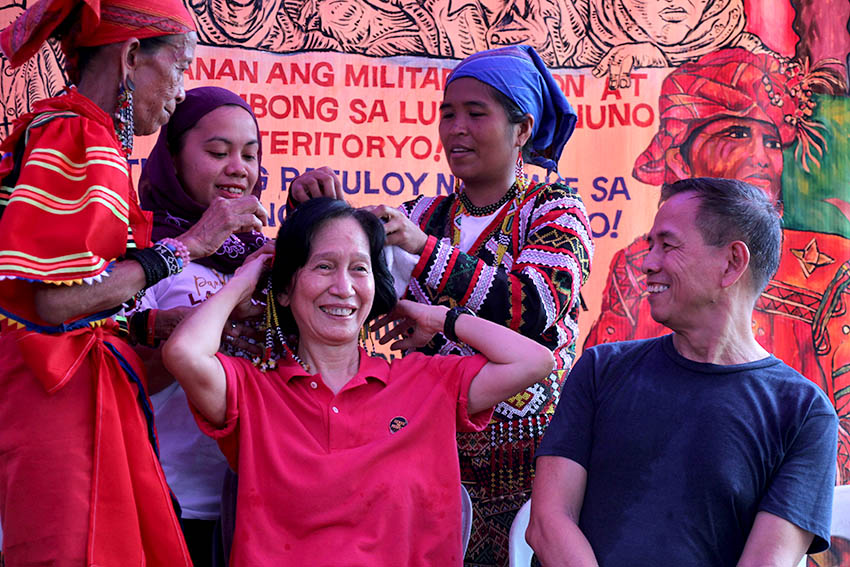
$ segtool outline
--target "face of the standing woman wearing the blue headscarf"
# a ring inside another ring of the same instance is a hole
[[[440,106],[440,142],[452,173],[467,188],[510,186],[517,154],[527,135],[508,121],[490,87],[477,79],[456,79]]]

